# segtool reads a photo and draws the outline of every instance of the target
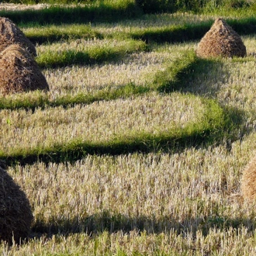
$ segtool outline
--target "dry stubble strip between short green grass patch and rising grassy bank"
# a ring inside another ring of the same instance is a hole
[[[78,92],[94,93],[102,88],[118,88],[130,82],[148,85],[166,61],[175,61],[182,50],[131,54],[116,64],[64,67],[43,71],[50,85],[50,98]]]

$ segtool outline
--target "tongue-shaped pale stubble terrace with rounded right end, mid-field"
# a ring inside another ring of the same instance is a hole
[[[203,109],[200,99],[152,94],[71,109],[2,110],[0,150],[49,147],[77,138],[104,143],[142,132],[161,135],[195,123]]]

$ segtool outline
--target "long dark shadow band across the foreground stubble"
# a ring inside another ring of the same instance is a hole
[[[102,213],[74,219],[54,220],[50,223],[43,223],[37,220],[33,224],[32,234],[40,237],[44,234],[51,237],[54,234],[68,235],[86,233],[89,235],[99,235],[107,231],[109,234],[122,231],[129,234],[130,231],[137,230],[137,233],[146,231],[147,234],[161,234],[175,231],[177,234],[192,234],[193,237],[201,230],[204,236],[209,234],[209,230],[216,228],[227,230],[229,228],[238,229],[246,227],[248,232],[254,232],[256,221],[251,219],[230,218],[220,216],[218,213],[201,217],[185,216],[183,220],[175,220],[175,216],[162,216],[160,219],[149,218],[147,216],[127,217],[120,213],[110,213],[102,210]]]

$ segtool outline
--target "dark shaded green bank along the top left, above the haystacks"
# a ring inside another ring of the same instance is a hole
[[[134,19],[142,15],[135,4],[113,7],[103,2],[100,5],[85,7],[51,6],[47,9],[29,9],[20,11],[0,11],[0,16],[12,19],[16,24],[46,25],[74,24],[88,22],[116,22],[123,19]]]

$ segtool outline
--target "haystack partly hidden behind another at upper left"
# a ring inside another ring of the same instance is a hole
[[[19,44],[36,56],[36,48],[33,43],[22,33],[12,20],[0,17],[0,52],[11,44]]]

